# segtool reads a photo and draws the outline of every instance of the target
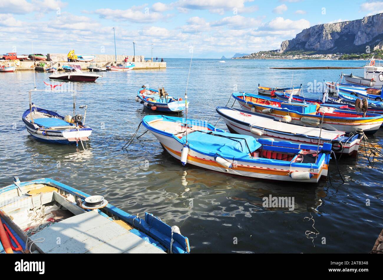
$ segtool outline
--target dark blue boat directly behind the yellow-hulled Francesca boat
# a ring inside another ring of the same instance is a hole
[[[275,93],[275,96],[282,101],[288,101],[290,94]],[[337,109],[355,111],[355,101],[358,97],[347,93],[338,93],[338,98],[327,97],[325,100],[316,98],[307,98],[303,96],[293,96],[292,101],[301,103],[318,103],[321,106],[336,107]],[[383,114],[383,102],[367,100],[368,108],[367,112],[374,114]]]

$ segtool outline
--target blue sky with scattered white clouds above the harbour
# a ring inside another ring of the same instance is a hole
[[[278,49],[304,28],[383,12],[383,1],[0,0],[1,53],[231,57]]]

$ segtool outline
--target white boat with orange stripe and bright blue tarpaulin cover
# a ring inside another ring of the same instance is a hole
[[[316,156],[316,145],[255,139],[225,132],[203,120],[145,116],[142,124],[183,165],[284,182],[316,183],[327,176],[329,143]]]

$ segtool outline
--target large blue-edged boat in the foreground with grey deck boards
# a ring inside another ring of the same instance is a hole
[[[100,195],[50,178],[0,189],[0,252],[188,253],[188,238],[145,213],[133,216]],[[57,242],[60,240],[60,242]]]

